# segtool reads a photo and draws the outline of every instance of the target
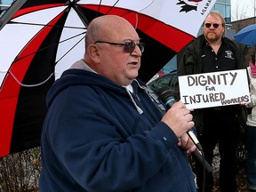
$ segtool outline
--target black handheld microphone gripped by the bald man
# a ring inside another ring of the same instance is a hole
[[[170,89],[170,87],[164,86],[162,87],[158,92],[156,92],[156,94],[158,95],[158,97],[160,98],[160,100],[162,100],[164,102],[164,104],[168,107],[168,108],[172,108],[172,105],[176,102],[173,94],[172,94],[172,90]],[[193,140],[193,142],[196,145],[196,148],[198,148],[198,150],[200,150],[201,152],[203,152],[203,148],[199,142],[199,140],[197,140],[195,133],[193,132],[192,129],[189,129],[187,132],[189,138],[191,140]],[[195,157],[195,159],[200,163],[205,165],[205,170],[206,172],[212,172],[213,168],[210,164],[208,164],[208,162],[205,161],[204,157],[199,153],[197,149],[194,150],[191,155]]]

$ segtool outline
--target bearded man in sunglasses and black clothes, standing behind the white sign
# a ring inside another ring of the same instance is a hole
[[[224,36],[225,20],[220,12],[210,12],[204,20],[203,35],[188,45],[178,67],[179,76],[245,68],[239,46]],[[213,150],[219,143],[221,192],[236,191],[236,148],[241,106],[202,108],[192,112],[205,160],[212,164]],[[204,172],[196,164],[198,191]],[[212,192],[212,173],[206,174],[205,192]]]

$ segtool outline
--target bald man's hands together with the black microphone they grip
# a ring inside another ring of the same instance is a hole
[[[169,87],[161,88],[157,95],[166,107],[169,108],[162,121],[176,134],[179,139],[178,145],[180,148],[186,150],[187,153],[191,153],[196,161],[204,166],[206,172],[212,172],[212,166],[204,160],[204,156],[202,156],[203,148],[192,129],[195,123],[193,122],[190,110],[181,101],[176,102]]]

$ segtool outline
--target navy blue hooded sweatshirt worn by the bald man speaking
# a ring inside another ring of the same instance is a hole
[[[140,80],[132,87],[134,94],[74,68],[52,85],[41,192],[196,192],[187,156],[161,122],[161,103]]]

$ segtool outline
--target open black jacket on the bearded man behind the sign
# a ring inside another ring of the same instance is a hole
[[[193,75],[203,73],[203,63],[202,63],[202,47],[205,46],[206,40],[204,35],[198,36],[191,44],[188,45],[186,52],[183,54],[182,59],[178,65],[178,75]],[[227,37],[222,37],[222,44],[228,48],[228,50],[232,51],[236,60],[236,66],[234,68],[229,68],[228,70],[233,69],[242,69],[245,68],[244,65],[244,57],[243,54],[236,42],[230,40]],[[212,71],[211,71],[212,72]],[[241,109],[244,107],[234,107],[234,106],[225,106],[221,108],[236,108],[237,115],[240,116]],[[195,126],[197,128],[197,132],[200,134],[200,130],[204,127],[203,123],[203,111],[204,109],[196,109],[192,112],[193,121],[195,122]]]

